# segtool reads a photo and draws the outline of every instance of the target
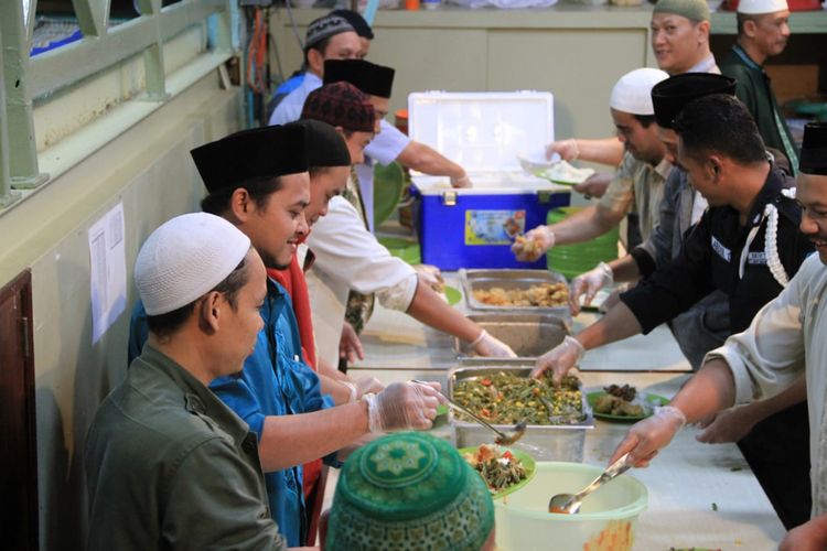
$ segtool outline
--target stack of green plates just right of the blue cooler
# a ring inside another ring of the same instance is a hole
[[[557,224],[568,218],[582,207],[562,207],[549,210],[547,222]],[[600,262],[609,262],[617,258],[617,228],[597,237],[590,241],[552,247],[546,253],[548,269],[562,273],[571,279],[591,270]]]

